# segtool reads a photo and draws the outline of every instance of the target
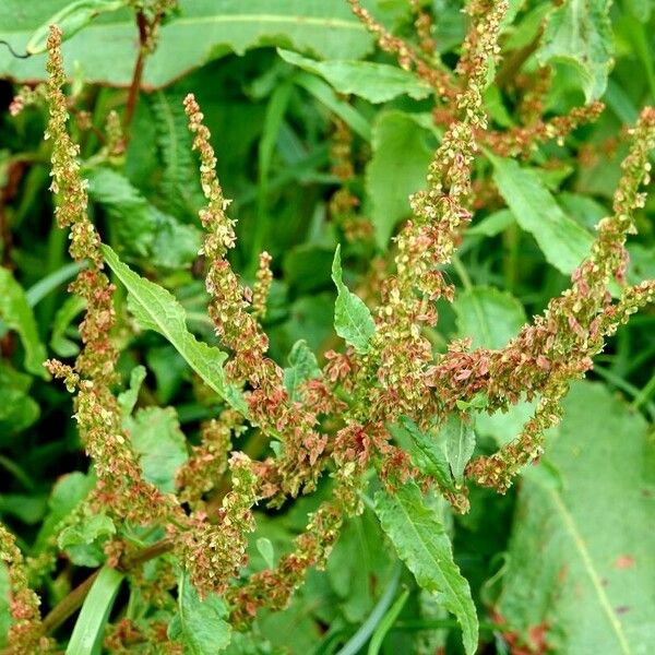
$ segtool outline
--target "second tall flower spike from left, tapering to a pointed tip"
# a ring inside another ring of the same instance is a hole
[[[233,352],[233,358],[226,365],[228,377],[238,384],[248,382],[251,386],[246,395],[252,421],[266,434],[282,440],[281,484],[283,491],[296,496],[301,488],[306,491],[314,488],[327,437],[315,430],[319,422],[315,408],[289,404],[283,371],[265,356],[269,340],[255,315],[247,311],[248,294],[225,259],[228,249],[235,245],[234,222],[225,214],[228,202],[216,177],[216,157],[210,143],[210,131],[203,124],[203,115],[191,94],[184,99],[184,110],[189,117],[189,129],[194,134],[193,147],[200,154],[201,183],[209,201],[200,217],[207,230],[203,252],[209,264],[210,317],[218,336]],[[267,255],[264,255],[263,262],[266,271]],[[260,278],[262,291],[269,275],[264,272]]]

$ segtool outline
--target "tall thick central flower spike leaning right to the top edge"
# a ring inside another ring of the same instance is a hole
[[[450,261],[457,231],[471,218],[467,205],[475,130],[486,127],[481,90],[490,61],[498,55],[500,22],[505,10],[507,2],[498,2],[490,12],[478,16],[473,29],[478,37],[468,46],[471,63],[462,70],[467,86],[455,100],[460,119],[443,135],[428,170],[427,190],[410,199],[415,218],[396,239],[396,274],[383,286],[371,348],[380,360],[370,358],[358,379],[362,389],[369,389],[364,405],[382,413],[379,420],[393,421],[409,414],[429,395],[421,376],[432,359],[432,347],[421,334],[421,324],[436,324],[437,298],[453,297],[453,287],[438,266]],[[370,419],[370,409],[366,412]]]

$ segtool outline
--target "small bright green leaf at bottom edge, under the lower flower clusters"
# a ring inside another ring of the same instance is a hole
[[[216,594],[204,600],[186,574],[178,585],[178,612],[168,626],[168,636],[184,646],[191,655],[214,655],[227,648],[231,628],[226,621],[227,605]]]

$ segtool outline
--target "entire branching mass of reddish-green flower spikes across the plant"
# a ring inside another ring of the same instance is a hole
[[[141,12],[147,10],[158,17],[174,4],[168,0],[132,3]],[[229,201],[216,174],[210,130],[195,97],[189,94],[184,98],[206,200],[199,217],[204,228],[201,262],[206,266],[209,314],[219,346],[228,352],[225,378],[246,401],[247,410],[222,408],[217,418],[202,424],[199,441],[189,448],[188,458],[177,469],[175,492],[169,493],[144,478],[115,394],[115,288],[104,273],[100,234],[87,215],[80,147],[67,128],[61,32],[52,27],[48,40],[46,138],[52,142],[51,190],[58,224],[70,228],[70,254],[83,264],[71,291],[85,300],[86,313],[80,325],[83,348],[74,366],[58,360],[49,360],[46,366],[75,394],[81,441],[97,477],[84,511],[73,512],[71,521],[81,521],[90,511],[102,511],[119,527],[136,525],[160,531],[165,535],[163,545],[153,548],[153,557],[166,552],[170,559],[160,563],[160,575],[154,582],[145,580],[142,571],[133,571],[134,584],[144,594],[150,590],[153,598],[165,604],[179,568],[188,574],[201,600],[212,594],[227,599],[230,620],[239,629],[246,628],[262,608],[286,607],[308,570],[325,565],[345,521],[362,512],[364,493],[373,473],[388,491],[414,479],[424,490],[437,490],[460,512],[468,509],[466,478],[507,491],[522,467],[540,456],[544,432],[559,420],[560,402],[570,383],[591,370],[593,357],[619,324],[655,299],[654,281],[634,286],[626,283],[626,238],[634,231],[634,211],[644,203],[641,186],[648,181],[648,155],[655,147],[655,110],[646,108],[632,133],[612,215],[598,224],[590,257],[574,271],[571,287],[501,349],[472,349],[471,341],[457,340],[444,353],[436,354],[428,331],[438,323],[437,301],[454,298],[454,286],[444,267],[456,257],[473,215],[477,192],[473,182],[476,160],[483,156],[480,146],[505,156],[528,156],[537,143],[563,138],[582,122],[596,118],[602,106],[592,104],[568,116],[545,119],[541,96],[548,72],[539,72],[533,96],[524,98],[525,124],[490,130],[484,92],[500,62],[505,0],[473,0],[467,5],[472,27],[454,71],[436,55],[430,20],[420,2],[412,2],[418,47],[393,36],[358,0],[349,0],[349,4],[380,47],[396,57],[404,69],[428,82],[436,102],[445,104],[433,112],[444,132],[425,188],[410,198],[413,215],[398,230],[385,270],[376,271],[376,289],[367,300],[373,305],[379,296],[379,302],[370,312],[366,344],[349,345],[343,353],[329,350],[321,368],[307,344],[300,343],[298,347],[307,348],[302,353],[309,372],[297,384],[289,383],[283,368],[269,355],[263,326],[273,285],[272,258],[267,252],[260,254],[252,288],[243,285],[233,270],[229,255],[236,242],[235,221],[228,216]],[[158,19],[153,25],[158,25]],[[156,29],[147,38],[155,36]],[[25,102],[31,98],[27,92],[23,96]],[[118,114],[110,114],[107,158],[120,156],[124,145]],[[340,120],[332,155],[333,172],[342,188],[330,206],[345,233],[352,228],[349,236],[369,236],[370,224],[357,222],[361,218],[356,216],[358,200],[347,188],[355,177],[350,148],[352,135]],[[338,282],[343,287],[341,277]],[[335,278],[337,286],[338,282]],[[364,311],[369,311],[366,305]],[[536,398],[538,404],[515,441],[491,455],[474,458],[465,469],[463,465],[463,476],[446,488],[436,475],[419,469],[395,439],[393,428],[409,421],[437,438],[453,417],[466,425],[473,402],[480,397],[484,410],[490,414],[507,410],[523,397]],[[266,446],[264,456],[258,458],[260,453],[252,454],[248,449],[250,456],[233,451],[246,433],[255,434]],[[276,509],[300,493],[314,491],[320,484],[324,485],[325,496],[290,551],[283,553],[276,565],[250,573],[248,547],[257,526],[258,503],[267,502],[269,508]],[[56,548],[52,540],[40,567],[55,565]],[[138,559],[134,551],[132,544],[118,537],[106,546],[109,564],[118,568],[127,568],[126,562]],[[11,635],[19,644],[16,653],[47,650],[38,597],[28,586],[20,550],[2,526],[0,559],[10,567],[14,619]],[[179,652],[178,645],[162,632],[162,626],[153,623],[151,630],[160,633],[157,640],[168,648],[166,652]],[[145,632],[124,618],[114,627],[109,641],[122,647],[130,639],[150,639],[143,636]]]

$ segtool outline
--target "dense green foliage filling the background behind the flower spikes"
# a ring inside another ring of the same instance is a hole
[[[68,4],[5,0],[0,39],[24,52],[35,32]],[[467,29],[461,3],[419,4],[433,19],[443,66],[454,68]],[[394,34],[416,40],[412,3],[366,5]],[[204,200],[182,108],[192,92],[212,132],[225,195],[233,199],[229,215],[238,221],[231,264],[251,284],[261,250],[273,258],[264,321],[270,355],[289,367],[294,344],[306,340],[322,365],[326,350],[343,347],[333,329],[336,246],[344,279],[371,300],[384,257],[393,252],[392,236],[410,214],[408,195],[424,187],[443,133],[432,120],[429,86],[376,48],[345,0],[180,0],[146,58],[127,147],[108,154],[107,117],[112,109],[124,117],[138,39],[132,8],[111,9],[90,16],[63,47],[71,129],[104,241],[172,291],[189,329],[216,343],[198,255]],[[611,212],[628,147],[624,126],[655,102],[651,10],[648,0],[510,3],[503,60],[485,92],[492,127],[520,123],[531,98],[541,103],[545,117],[596,99],[605,109],[564,139],[521,156],[479,159],[472,227],[445,270],[455,300],[439,301],[439,324],[429,334],[434,352],[461,336],[474,346],[502,347],[568,286],[594,225]],[[74,21],[66,12],[60,19],[66,35]],[[44,35],[41,29],[40,43]],[[33,44],[38,49],[38,34]],[[43,139],[47,108],[36,97],[20,115],[9,112],[21,83],[45,79],[45,55],[20,59],[0,45],[0,517],[21,549],[38,558],[93,484],[71,396],[40,366],[46,357],[78,354],[83,301],[67,293],[79,265],[71,264],[67,234],[52,218],[50,143]],[[636,223],[639,235],[628,247],[631,283],[655,277],[654,200]],[[171,491],[201,422],[217,416],[222,402],[164,337],[138,329],[120,285],[116,302],[121,389],[135,367],[145,367],[130,419],[134,448],[148,479]],[[652,652],[654,334],[653,307],[618,331],[587,381],[573,385],[538,466],[507,495],[472,485],[471,511],[463,515],[434,499],[477,606],[479,653]],[[533,407],[520,402],[508,414],[480,413],[476,452],[516,437]],[[252,457],[271,452],[253,431],[235,448]],[[326,486],[324,480],[315,493],[278,510],[258,508],[249,570],[289,549]],[[261,612],[227,652],[463,652],[456,621],[439,595],[417,586],[368,496],[365,504],[360,516],[348,520],[325,571],[311,570],[288,609]],[[59,536],[57,568],[38,587],[44,614],[105,561],[103,546],[114,531],[109,522]],[[151,535],[123,538],[147,544]],[[8,584],[2,568],[1,647],[11,645]],[[170,599],[157,607],[136,587],[122,587],[111,620],[169,622],[176,611]],[[74,621],[59,628],[60,643]],[[160,647],[148,651],[136,640],[129,652],[167,652]],[[212,647],[188,652],[216,652]]]

